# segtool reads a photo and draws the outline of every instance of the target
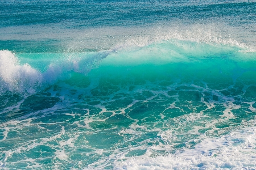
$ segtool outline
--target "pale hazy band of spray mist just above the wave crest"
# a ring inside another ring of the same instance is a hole
[[[120,47],[146,46],[167,40],[240,46],[255,50],[253,27],[243,29],[224,23],[155,23],[134,27],[58,28],[54,25],[0,30],[0,45],[19,53],[97,52]],[[17,39],[16,35],[19,35]],[[26,48],[24,48],[26,46]]]

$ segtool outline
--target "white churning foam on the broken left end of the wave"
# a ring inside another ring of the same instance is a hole
[[[8,50],[0,50],[0,93],[12,91],[18,93],[34,94],[38,90],[46,88],[56,80],[66,79],[67,73],[87,74],[97,62],[108,56],[113,50],[83,54],[61,54],[61,59],[46,66],[44,73],[33,68],[30,64],[21,64],[18,57]],[[75,56],[74,56],[75,55]],[[40,62],[40,60],[36,61]]]

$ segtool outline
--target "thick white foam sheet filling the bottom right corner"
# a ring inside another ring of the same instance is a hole
[[[233,131],[221,138],[207,138],[195,148],[167,156],[148,155],[115,163],[115,169],[254,169],[256,127]]]

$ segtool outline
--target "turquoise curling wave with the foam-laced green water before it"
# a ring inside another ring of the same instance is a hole
[[[10,78],[18,80],[9,78],[13,92],[3,90],[1,97],[3,163],[10,169],[111,169],[121,159],[175,154],[254,125],[255,53],[196,42],[198,49],[181,50],[175,44],[108,56],[17,54],[20,65],[10,65],[18,70]],[[25,80],[23,72],[30,74]]]

